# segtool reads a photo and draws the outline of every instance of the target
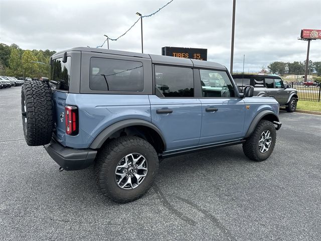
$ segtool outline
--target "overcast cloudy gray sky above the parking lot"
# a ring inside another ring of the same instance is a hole
[[[101,45],[170,0],[0,0],[0,43],[22,49],[61,51]],[[174,0],[143,18],[144,53],[162,47],[208,49],[208,61],[230,69],[233,0]],[[306,59],[301,29],[321,29],[321,0],[236,0],[234,72],[258,71],[274,61]],[[141,52],[140,22],[109,48]],[[103,46],[107,48],[107,43]],[[310,44],[309,59],[321,61],[321,40]]]

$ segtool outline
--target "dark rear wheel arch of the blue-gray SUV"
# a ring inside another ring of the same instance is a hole
[[[108,141],[108,139],[116,138],[123,134],[142,137],[148,141],[158,153],[166,150],[166,142],[162,132],[155,125],[142,119],[125,119],[110,125],[98,134],[89,148],[98,149]]]

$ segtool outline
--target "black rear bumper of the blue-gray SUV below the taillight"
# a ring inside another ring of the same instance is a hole
[[[64,147],[54,139],[44,146],[54,161],[67,171],[89,167],[95,160],[97,151],[93,149],[74,149]]]

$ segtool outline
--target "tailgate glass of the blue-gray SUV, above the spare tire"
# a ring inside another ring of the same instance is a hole
[[[57,82],[55,89],[69,90],[70,84],[71,57],[63,63],[62,58],[54,59],[50,69],[50,80]]]

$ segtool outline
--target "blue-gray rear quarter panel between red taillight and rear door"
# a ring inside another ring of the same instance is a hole
[[[88,148],[95,137],[108,126],[124,119],[151,122],[148,95],[68,94],[67,105],[76,105],[79,134],[66,135],[66,146]]]

